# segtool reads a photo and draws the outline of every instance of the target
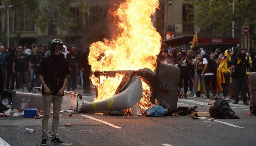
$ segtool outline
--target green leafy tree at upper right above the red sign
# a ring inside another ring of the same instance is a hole
[[[255,27],[256,0],[186,0],[193,3],[194,19],[191,23],[201,28],[202,34],[226,35],[232,32],[232,22],[236,30],[243,26]]]

